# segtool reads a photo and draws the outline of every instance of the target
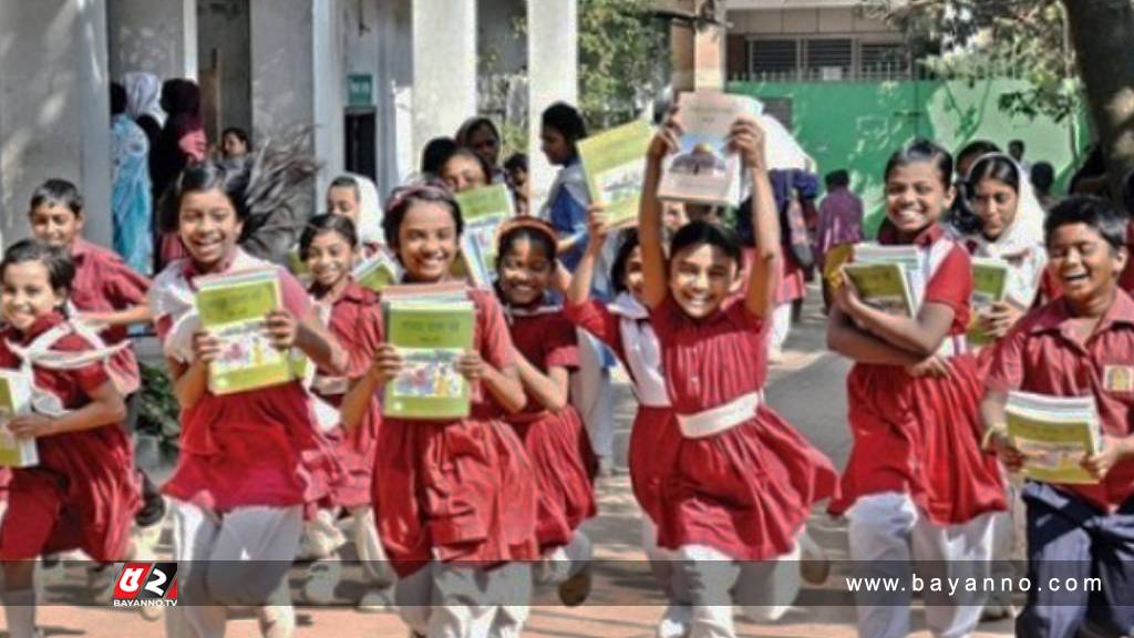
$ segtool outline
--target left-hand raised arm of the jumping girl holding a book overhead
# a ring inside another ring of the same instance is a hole
[[[661,202],[658,184],[661,181],[661,160],[677,150],[680,124],[676,114],[666,121],[650,142],[646,151],[645,178],[642,182],[642,201],[638,208],[638,238],[642,243],[643,301],[650,308],[666,300],[668,276],[666,253],[661,240]]]

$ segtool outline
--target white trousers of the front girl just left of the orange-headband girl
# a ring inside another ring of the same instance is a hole
[[[430,563],[398,579],[395,601],[409,629],[429,638],[513,638],[527,620],[532,570]]]

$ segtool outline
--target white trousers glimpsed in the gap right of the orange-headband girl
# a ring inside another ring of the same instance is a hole
[[[606,346],[585,330],[577,333],[579,366],[572,375],[572,403],[583,418],[594,454],[610,460],[615,455],[615,397],[610,369],[602,366]]]

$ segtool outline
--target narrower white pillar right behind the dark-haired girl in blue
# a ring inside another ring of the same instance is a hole
[[[577,0],[527,0],[528,165],[533,211],[543,205],[557,170],[540,151],[540,118],[553,102],[578,102],[577,32]]]

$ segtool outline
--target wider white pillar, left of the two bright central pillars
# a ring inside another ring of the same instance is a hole
[[[476,1],[413,0],[413,149],[421,157],[426,142],[455,135],[476,115]]]

